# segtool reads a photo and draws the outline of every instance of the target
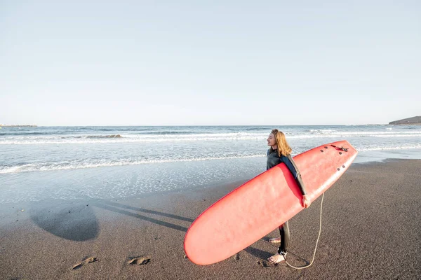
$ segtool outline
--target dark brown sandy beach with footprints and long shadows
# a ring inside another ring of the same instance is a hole
[[[266,262],[277,230],[214,265],[184,258],[194,218],[242,182],[136,200],[4,204],[0,278],[420,279],[420,170],[421,160],[352,165],[326,192],[316,259],[302,270]],[[293,265],[312,258],[320,202],[290,221]]]

